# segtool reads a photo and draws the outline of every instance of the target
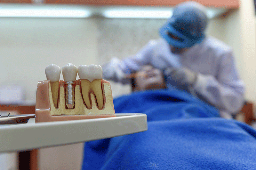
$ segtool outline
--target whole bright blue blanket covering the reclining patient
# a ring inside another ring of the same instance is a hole
[[[148,131],[86,142],[83,169],[256,169],[256,131],[184,92],[138,92],[114,106],[147,113]]]

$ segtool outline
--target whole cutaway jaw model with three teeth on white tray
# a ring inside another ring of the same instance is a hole
[[[99,65],[45,68],[47,80],[39,81],[36,91],[36,122],[115,117],[110,83],[102,79]],[[76,73],[79,80],[76,80]]]

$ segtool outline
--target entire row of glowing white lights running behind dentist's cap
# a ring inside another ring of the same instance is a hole
[[[88,18],[93,15],[105,18],[170,18],[172,7],[145,6],[85,6],[60,4],[0,4],[0,17],[34,18]],[[207,8],[209,18],[226,12],[226,9]]]

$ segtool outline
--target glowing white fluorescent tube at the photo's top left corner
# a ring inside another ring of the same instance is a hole
[[[44,5],[0,5],[0,17],[87,18],[91,12],[84,8]]]

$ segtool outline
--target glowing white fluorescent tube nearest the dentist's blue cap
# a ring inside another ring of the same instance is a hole
[[[170,18],[171,10],[106,10],[106,18]]]

